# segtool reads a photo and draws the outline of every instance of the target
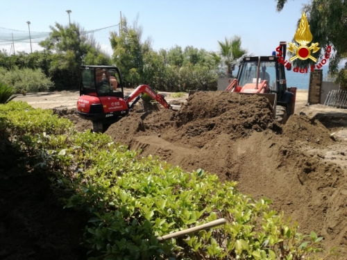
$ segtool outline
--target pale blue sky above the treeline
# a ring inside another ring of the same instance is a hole
[[[301,18],[301,8],[308,0],[289,0],[284,10],[276,12],[275,0],[1,0],[0,27],[28,32],[49,32],[55,22],[76,21],[86,31],[119,23],[120,11],[130,23],[138,17],[143,39],[151,37],[153,49],[178,45],[217,51],[217,41],[239,35],[242,46],[255,55],[271,55],[280,41],[290,42]],[[94,33],[105,51],[112,54],[110,30]],[[11,33],[0,28],[1,33]],[[12,33],[25,33],[16,32]],[[0,46],[10,51],[10,45]],[[30,52],[30,44],[15,44],[16,51]],[[33,44],[33,51],[40,50]]]

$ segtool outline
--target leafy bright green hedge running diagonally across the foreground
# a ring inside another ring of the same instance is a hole
[[[49,174],[66,207],[92,217],[83,244],[90,259],[310,259],[321,239],[298,234],[269,200],[198,169],[185,173],[108,135],[78,133],[67,119],[22,102],[0,105],[11,139],[28,165]],[[158,236],[216,218],[228,224],[159,243]]]

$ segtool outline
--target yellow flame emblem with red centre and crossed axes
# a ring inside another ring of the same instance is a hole
[[[311,59],[314,62],[317,62],[317,59],[312,57],[311,51],[315,53],[316,51],[319,51],[321,49],[318,47],[318,42],[312,43],[310,47],[307,46],[312,41],[312,33],[310,31],[310,25],[308,24],[305,12],[303,12],[303,15],[301,15],[301,20],[299,24],[298,30],[296,30],[296,33],[294,35],[294,40],[300,44],[300,46],[296,46],[296,44],[289,42],[289,48],[288,51],[295,54],[293,57],[291,57],[289,60],[292,62],[293,60],[300,59],[300,60],[307,60]]]

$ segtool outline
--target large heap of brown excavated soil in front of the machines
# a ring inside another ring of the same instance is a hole
[[[326,248],[347,246],[347,164],[321,154],[339,141],[319,121],[294,115],[281,127],[265,98],[210,92],[190,96],[179,112],[135,110],[106,134],[142,156],[237,180],[242,193],[270,198],[298,220],[301,232],[325,236]]]

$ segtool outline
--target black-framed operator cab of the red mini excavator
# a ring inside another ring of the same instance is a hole
[[[119,69],[114,66],[81,66],[82,95],[124,98]]]

